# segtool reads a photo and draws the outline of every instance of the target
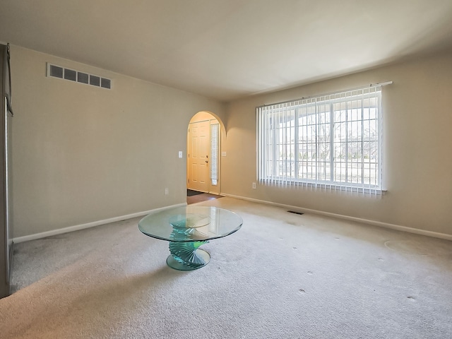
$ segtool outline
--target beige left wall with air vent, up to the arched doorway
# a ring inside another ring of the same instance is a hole
[[[219,102],[20,47],[11,57],[14,237],[186,201],[187,126],[203,110],[224,119]],[[112,90],[47,78],[47,62]]]

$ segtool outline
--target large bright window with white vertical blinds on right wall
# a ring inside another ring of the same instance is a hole
[[[381,85],[258,107],[258,179],[381,194]]]

